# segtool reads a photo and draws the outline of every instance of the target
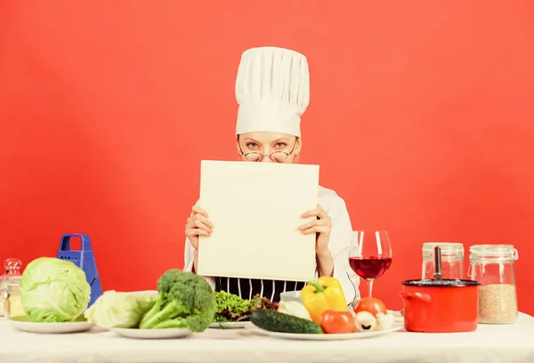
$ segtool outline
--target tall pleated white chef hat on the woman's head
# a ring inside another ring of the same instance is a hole
[[[260,47],[243,52],[236,79],[236,134],[270,131],[301,136],[300,117],[310,102],[303,54]]]

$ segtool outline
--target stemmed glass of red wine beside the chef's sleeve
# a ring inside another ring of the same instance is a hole
[[[349,264],[360,278],[368,281],[368,296],[373,281],[392,265],[392,245],[385,230],[355,230],[349,248]]]

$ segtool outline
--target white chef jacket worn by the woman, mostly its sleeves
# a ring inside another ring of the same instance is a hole
[[[349,266],[349,246],[352,238],[352,225],[344,203],[334,190],[319,187],[319,204],[332,219],[332,230],[328,249],[334,260],[334,278],[337,278],[344,289],[347,306],[360,299],[360,278]],[[209,211],[208,211],[209,212]],[[304,211],[303,211],[304,212]],[[189,238],[186,238],[184,249],[184,271],[192,271],[194,249]],[[204,277],[215,289],[215,278]],[[263,287],[263,281],[262,281]],[[262,289],[263,290],[263,289]],[[248,296],[242,296],[248,298]],[[268,297],[268,296],[267,296]]]

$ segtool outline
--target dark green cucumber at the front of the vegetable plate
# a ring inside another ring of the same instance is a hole
[[[279,311],[252,311],[250,321],[256,327],[277,333],[322,334],[322,328],[313,321],[297,318]]]

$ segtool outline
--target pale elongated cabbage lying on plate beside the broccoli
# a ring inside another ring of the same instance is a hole
[[[85,319],[99,327],[139,327],[142,316],[158,299],[158,291],[122,293],[106,291],[84,313]]]

